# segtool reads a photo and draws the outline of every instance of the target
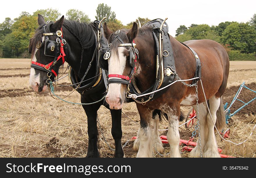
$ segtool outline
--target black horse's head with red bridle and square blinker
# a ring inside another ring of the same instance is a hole
[[[54,81],[59,67],[64,63],[63,46],[66,41],[62,37],[62,16],[57,22],[45,22],[38,14],[38,24],[35,35],[30,39],[31,72],[29,83],[36,92],[47,90],[49,81]]]

